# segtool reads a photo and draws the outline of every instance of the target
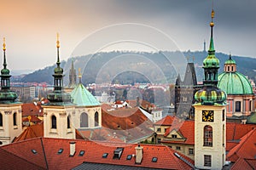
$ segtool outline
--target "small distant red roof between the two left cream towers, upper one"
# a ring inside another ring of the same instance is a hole
[[[41,105],[28,103],[21,105],[22,116],[44,116],[44,110]]]

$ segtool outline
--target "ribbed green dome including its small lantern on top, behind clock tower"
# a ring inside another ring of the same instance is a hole
[[[231,58],[231,54],[225,61],[224,72],[218,76],[218,88],[231,95],[253,94],[253,88],[247,77],[236,71],[236,61]]]

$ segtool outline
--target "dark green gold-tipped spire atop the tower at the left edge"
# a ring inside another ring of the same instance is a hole
[[[3,38],[3,69],[1,70],[1,91],[0,91],[0,104],[9,104],[15,103],[15,99],[17,99],[18,95],[10,90],[9,78],[9,69],[7,69],[6,63],[6,44],[5,38]]]

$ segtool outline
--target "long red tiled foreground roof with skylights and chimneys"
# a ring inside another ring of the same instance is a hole
[[[75,141],[75,155],[70,155],[70,142]],[[120,144],[107,142],[92,142],[74,139],[29,139],[22,142],[4,145],[3,150],[7,150],[21,159],[31,161],[36,165],[40,165],[49,169],[71,169],[86,162],[106,163],[112,165],[124,165],[132,167],[154,167],[165,169],[191,169],[188,164],[174,156],[175,150],[168,146],[157,144],[141,144],[143,147],[143,161],[141,164],[135,164],[135,157],[126,160],[126,156],[136,153],[137,144]],[[113,151],[117,147],[123,147],[124,151],[120,159],[113,159]],[[58,150],[63,149],[61,154]],[[37,154],[33,154],[31,150],[36,150]],[[84,150],[84,156],[79,156],[79,151]],[[108,153],[107,158],[102,158],[104,153]],[[179,154],[183,156],[182,154]],[[1,157],[1,155],[0,155]],[[152,158],[157,157],[157,162],[153,162]],[[186,156],[184,159],[194,164],[194,161]],[[0,161],[0,167],[4,164]],[[12,162],[15,164],[15,162]]]

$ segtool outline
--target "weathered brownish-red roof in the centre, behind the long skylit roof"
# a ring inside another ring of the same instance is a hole
[[[147,139],[154,131],[152,122],[138,108],[106,111],[102,109],[102,127],[95,129],[79,129],[84,139],[138,142]]]

